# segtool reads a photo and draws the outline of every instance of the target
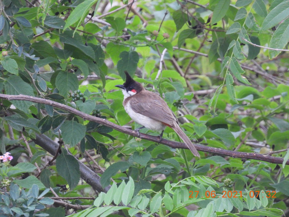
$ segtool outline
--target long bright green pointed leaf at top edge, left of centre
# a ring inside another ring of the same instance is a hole
[[[64,30],[76,23],[77,21],[83,20],[92,5],[94,5],[98,0],[86,0],[79,5],[71,12],[71,14],[68,16],[67,20],[65,21]]]

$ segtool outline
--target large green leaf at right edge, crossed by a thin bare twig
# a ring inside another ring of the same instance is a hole
[[[275,30],[269,47],[275,48],[275,49],[284,49],[284,47],[288,44],[289,41],[289,18],[285,19]],[[281,51],[278,50],[269,50],[269,58],[273,59],[278,54],[280,54]]]

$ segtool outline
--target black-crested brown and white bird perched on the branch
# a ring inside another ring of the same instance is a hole
[[[175,114],[167,103],[158,94],[144,89],[142,84],[131,78],[127,71],[125,71],[125,75],[125,82],[115,85],[115,87],[122,89],[124,95],[123,106],[126,113],[131,119],[142,125],[142,127],[135,129],[138,137],[139,130],[147,128],[154,131],[162,131],[160,134],[161,141],[164,129],[168,126],[179,135],[194,156],[200,157],[191,140],[181,130]]]

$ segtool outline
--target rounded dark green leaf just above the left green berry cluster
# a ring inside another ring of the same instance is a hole
[[[55,86],[58,88],[60,95],[66,96],[68,91],[78,89],[77,76],[68,71],[61,71],[56,76]]]

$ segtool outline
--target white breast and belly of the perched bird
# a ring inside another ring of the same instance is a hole
[[[125,105],[125,111],[131,117],[131,119],[133,119],[135,122],[144,126],[147,129],[159,131],[166,128],[166,125],[162,124],[162,122],[154,120],[150,117],[147,117],[132,110],[129,101]]]

